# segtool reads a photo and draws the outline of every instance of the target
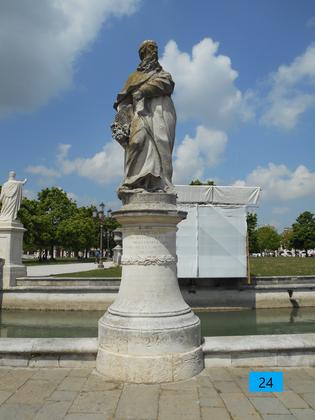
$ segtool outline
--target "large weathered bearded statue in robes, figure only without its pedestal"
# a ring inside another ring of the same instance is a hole
[[[170,192],[176,112],[174,82],[158,62],[154,41],[139,48],[140,64],[117,95],[113,138],[125,149],[124,179],[118,195],[131,192]]]

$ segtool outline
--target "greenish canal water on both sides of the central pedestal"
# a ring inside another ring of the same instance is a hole
[[[203,336],[315,333],[315,308],[196,312]],[[2,311],[1,337],[97,337],[103,311]]]

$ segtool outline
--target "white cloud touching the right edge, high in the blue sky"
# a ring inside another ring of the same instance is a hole
[[[299,117],[315,104],[315,45],[282,65],[270,77],[271,90],[265,98],[261,122],[283,129],[296,126]]]

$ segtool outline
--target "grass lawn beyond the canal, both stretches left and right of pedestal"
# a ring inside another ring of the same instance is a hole
[[[251,276],[315,276],[315,258],[251,257]],[[80,273],[58,274],[54,277],[120,277],[121,267],[96,269]]]

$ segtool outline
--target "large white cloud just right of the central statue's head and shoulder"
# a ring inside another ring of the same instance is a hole
[[[218,54],[219,43],[204,38],[192,54],[181,52],[175,41],[165,46],[160,60],[175,81],[178,116],[212,127],[224,127],[236,116],[251,117],[246,101],[234,85],[238,77],[231,59]]]

